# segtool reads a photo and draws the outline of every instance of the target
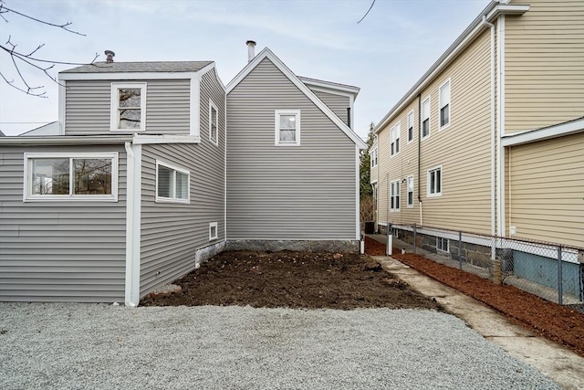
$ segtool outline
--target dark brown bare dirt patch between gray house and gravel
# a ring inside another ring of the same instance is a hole
[[[369,256],[306,252],[223,252],[174,282],[181,292],[144,306],[239,305],[297,309],[391,308],[443,311]]]

